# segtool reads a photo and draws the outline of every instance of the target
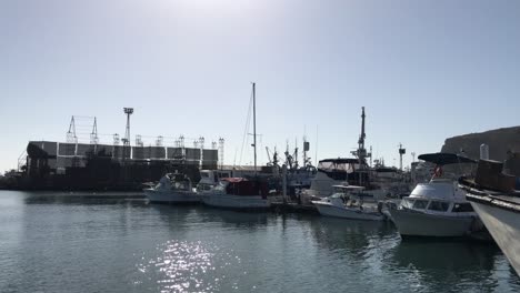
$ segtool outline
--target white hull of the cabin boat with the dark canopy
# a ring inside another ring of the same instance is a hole
[[[391,209],[390,214],[401,236],[467,236],[479,221],[472,215],[448,216],[408,209]]]

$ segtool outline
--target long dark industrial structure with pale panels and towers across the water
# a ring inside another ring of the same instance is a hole
[[[144,145],[136,135],[131,145],[130,115],[132,108],[124,108],[127,127],[124,138],[113,134],[113,143],[100,143],[97,119],[89,125],[89,143],[77,135],[78,117],[72,117],[66,142],[30,141],[27,155],[19,159],[23,189],[58,190],[139,190],[143,182],[158,181],[166,172],[182,169],[192,180],[199,180],[199,169],[214,170],[219,152],[223,153],[223,139],[204,149],[204,138],[193,140],[193,148],[184,145],[179,137],[174,145],[164,145],[158,137],[153,145]],[[91,130],[91,131],[90,131]],[[83,133],[84,134],[84,133]],[[216,148],[218,145],[218,149]]]

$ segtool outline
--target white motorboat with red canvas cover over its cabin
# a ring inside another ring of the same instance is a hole
[[[264,210],[270,208],[267,185],[244,178],[226,178],[219,185],[200,193],[210,206],[237,210]]]

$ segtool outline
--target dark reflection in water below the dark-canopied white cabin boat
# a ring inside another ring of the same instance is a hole
[[[494,291],[513,280],[499,249],[489,243],[403,241],[389,251],[386,270],[404,276],[418,291]],[[513,274],[513,273],[512,273]]]

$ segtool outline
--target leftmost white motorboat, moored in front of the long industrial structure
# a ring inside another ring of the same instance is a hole
[[[168,173],[156,186],[143,191],[150,202],[198,203],[201,201],[200,195],[193,191],[190,179],[183,174]]]

